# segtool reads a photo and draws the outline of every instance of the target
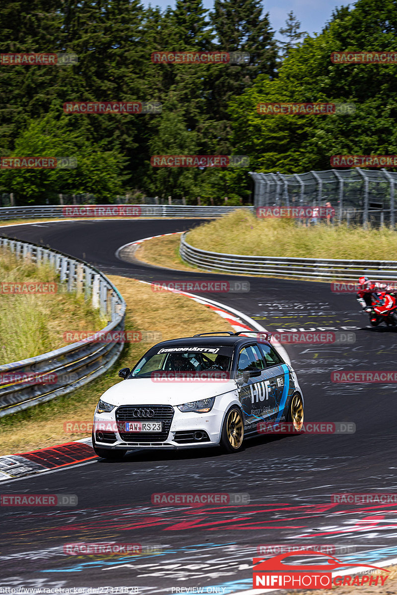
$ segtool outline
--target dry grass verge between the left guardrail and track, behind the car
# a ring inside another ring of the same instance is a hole
[[[158,340],[192,336],[214,329],[233,330],[210,308],[188,297],[171,292],[154,293],[150,285],[126,277],[111,275],[109,278],[127,302],[126,330],[157,331],[162,336]],[[101,394],[121,381],[117,371],[132,367],[152,343],[126,343],[117,364],[83,389],[1,418],[0,455],[27,452],[90,436],[85,432],[67,433],[64,424],[92,422]]]

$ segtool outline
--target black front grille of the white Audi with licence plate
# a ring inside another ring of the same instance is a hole
[[[139,412],[141,415],[137,415]],[[121,440],[129,443],[164,442],[170,433],[174,409],[170,405],[121,405],[115,411]],[[125,432],[126,421],[161,421],[161,432]]]

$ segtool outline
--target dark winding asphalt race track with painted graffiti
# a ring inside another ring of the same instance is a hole
[[[108,274],[146,281],[236,280],[172,273],[115,257],[117,248],[128,242],[198,223],[62,221],[2,228],[2,233],[83,258]],[[305,422],[352,422],[355,433],[264,436],[246,442],[237,455],[217,449],[136,452],[121,462],[100,459],[3,482],[3,494],[76,493],[79,503],[58,510],[2,509],[1,585],[111,585],[130,587],[129,593],[139,587],[139,593],[164,595],[176,588],[211,587],[204,593],[235,593],[252,588],[252,558],[264,553],[258,546],[317,544],[353,563],[397,556],[395,503],[346,505],[331,499],[341,492],[397,491],[397,386],[333,383],[330,376],[340,369],[395,370],[397,334],[367,327],[355,296],[332,293],[329,283],[245,280],[251,283],[249,293],[204,296],[244,312],[268,330],[355,333],[351,345],[287,347],[304,390]],[[163,491],[244,492],[251,502],[152,505],[151,494]],[[109,541],[139,543],[155,551],[139,556],[64,553],[68,543]]]

